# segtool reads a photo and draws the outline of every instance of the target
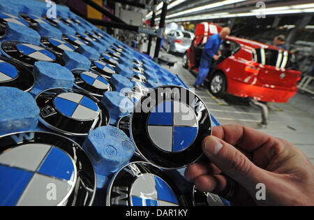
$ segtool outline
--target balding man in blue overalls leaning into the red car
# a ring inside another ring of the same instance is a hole
[[[202,57],[200,60],[200,66],[198,68],[198,74],[195,81],[195,88],[204,87],[204,81],[209,73],[209,69],[211,68],[212,59],[218,60],[218,49],[220,45],[223,43],[223,40],[230,34],[230,28],[224,27],[219,34],[215,34],[209,38],[205,47],[202,51]]]

